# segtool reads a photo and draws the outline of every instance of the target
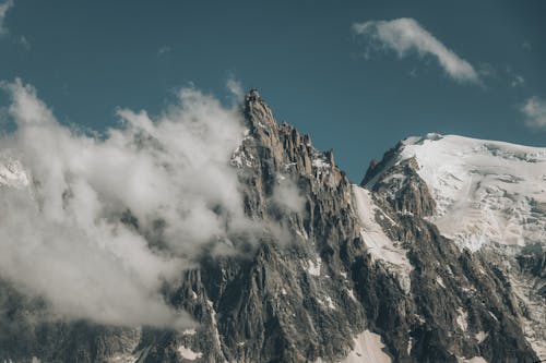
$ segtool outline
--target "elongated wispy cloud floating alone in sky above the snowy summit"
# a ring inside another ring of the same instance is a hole
[[[419,57],[434,56],[446,73],[456,82],[479,83],[478,74],[471,63],[447,48],[414,19],[355,23],[353,32],[396,51],[401,58],[412,50]]]

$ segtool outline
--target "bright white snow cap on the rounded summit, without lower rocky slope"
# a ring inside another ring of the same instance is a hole
[[[436,201],[431,221],[461,247],[546,244],[546,148],[428,134],[404,140],[391,162],[408,159]]]

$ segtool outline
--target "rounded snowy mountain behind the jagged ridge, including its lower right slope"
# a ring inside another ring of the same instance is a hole
[[[363,184],[396,199],[412,169],[435,202],[427,219],[463,251],[500,266],[524,306],[525,334],[546,354],[546,148],[455,135],[408,137]]]

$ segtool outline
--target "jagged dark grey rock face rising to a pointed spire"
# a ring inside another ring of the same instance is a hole
[[[234,238],[244,254],[203,255],[165,286],[168,303],[198,326],[50,320],[44,301],[3,281],[0,362],[538,360],[544,335],[531,341],[527,330],[544,332],[544,319],[530,317],[545,306],[543,251],[522,249],[510,261],[517,281],[538,283],[530,300],[500,258],[442,235],[434,219],[442,205],[419,159],[401,156],[404,144],[358,186],[332,152],[277,124],[258,92],[242,111],[248,132],[230,162],[246,185],[245,211],[263,232],[258,243]]]

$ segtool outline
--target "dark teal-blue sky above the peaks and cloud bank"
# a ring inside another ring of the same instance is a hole
[[[236,80],[359,182],[411,135],[546,146],[545,17],[541,0],[0,0],[0,80],[96,131],[181,87],[228,102]]]

